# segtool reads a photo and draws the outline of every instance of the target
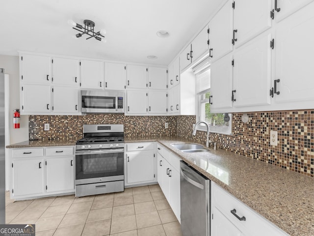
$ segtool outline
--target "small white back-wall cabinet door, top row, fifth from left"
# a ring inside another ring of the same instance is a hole
[[[127,65],[127,87],[133,89],[147,88],[147,67],[141,65]]]

